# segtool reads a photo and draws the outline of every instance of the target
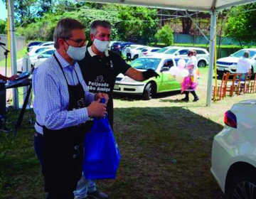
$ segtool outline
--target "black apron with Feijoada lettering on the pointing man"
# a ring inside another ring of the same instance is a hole
[[[88,53],[88,52],[86,52]],[[100,61],[102,60],[102,62]],[[107,63],[107,65],[106,65]],[[113,89],[114,89],[114,72],[113,63],[110,56],[97,59],[90,55],[85,55],[85,65],[81,64],[82,75],[90,92],[104,92],[109,95],[107,102],[107,114],[109,116],[110,126],[113,128]]]

